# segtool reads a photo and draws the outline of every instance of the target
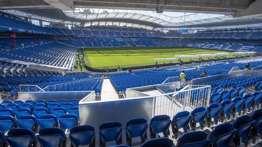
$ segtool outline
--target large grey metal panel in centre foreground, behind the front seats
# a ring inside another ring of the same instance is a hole
[[[114,101],[79,102],[80,125],[89,124],[99,132],[99,125],[108,121],[119,121],[122,129],[132,118],[145,118],[148,123],[153,114],[153,97],[121,99]]]

